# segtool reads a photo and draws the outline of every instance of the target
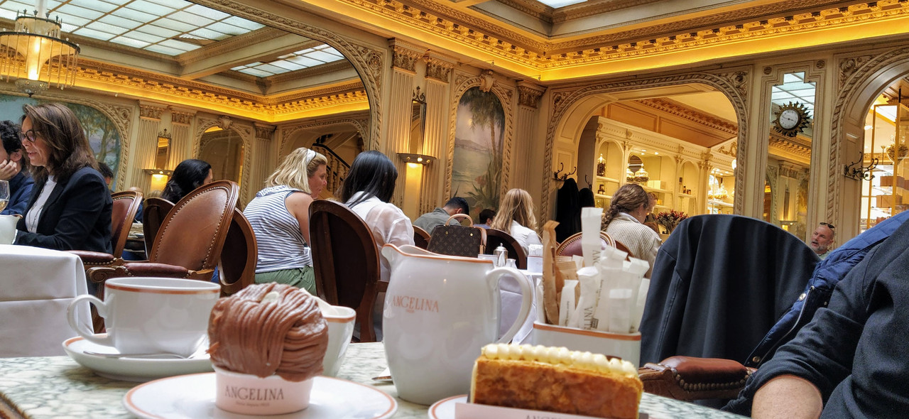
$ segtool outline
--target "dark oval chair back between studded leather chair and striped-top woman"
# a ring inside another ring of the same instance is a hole
[[[225,246],[218,262],[218,276],[221,281],[221,295],[235,294],[255,282],[255,264],[259,250],[255,244],[253,226],[239,208],[227,229]]]

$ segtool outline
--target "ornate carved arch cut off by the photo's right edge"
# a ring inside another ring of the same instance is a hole
[[[876,53],[856,53],[837,58],[838,75],[834,91],[839,92],[839,95],[834,100],[834,112],[831,117],[831,164],[827,176],[829,198],[825,208],[827,220],[840,220],[844,216],[846,205],[855,205],[857,202],[857,199],[845,199],[845,196],[851,196],[852,187],[860,188],[861,184],[847,184],[843,167],[846,161],[854,161],[856,158],[851,152],[861,150],[855,147],[861,147],[858,143],[864,142],[864,116],[868,108],[884,88],[909,73],[909,46],[878,50]],[[850,145],[851,141],[856,145]],[[840,235],[840,232],[837,233]],[[852,233],[850,236],[858,234],[858,231]]]

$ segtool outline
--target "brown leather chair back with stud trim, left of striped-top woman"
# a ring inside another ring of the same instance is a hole
[[[221,180],[185,195],[167,213],[148,261],[198,271],[214,269],[224,248],[239,186]]]

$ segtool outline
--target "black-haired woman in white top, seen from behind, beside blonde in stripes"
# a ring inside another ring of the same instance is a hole
[[[369,225],[380,255],[385,244],[414,244],[410,218],[401,208],[388,203],[395,193],[396,180],[397,169],[388,157],[377,151],[365,151],[354,159],[341,188],[341,202]],[[382,280],[388,281],[391,267],[385,256],[380,259]]]

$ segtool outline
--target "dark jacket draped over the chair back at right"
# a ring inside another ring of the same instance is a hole
[[[641,322],[641,364],[745,357],[798,299],[818,258],[793,234],[741,215],[685,219],[660,247]]]

